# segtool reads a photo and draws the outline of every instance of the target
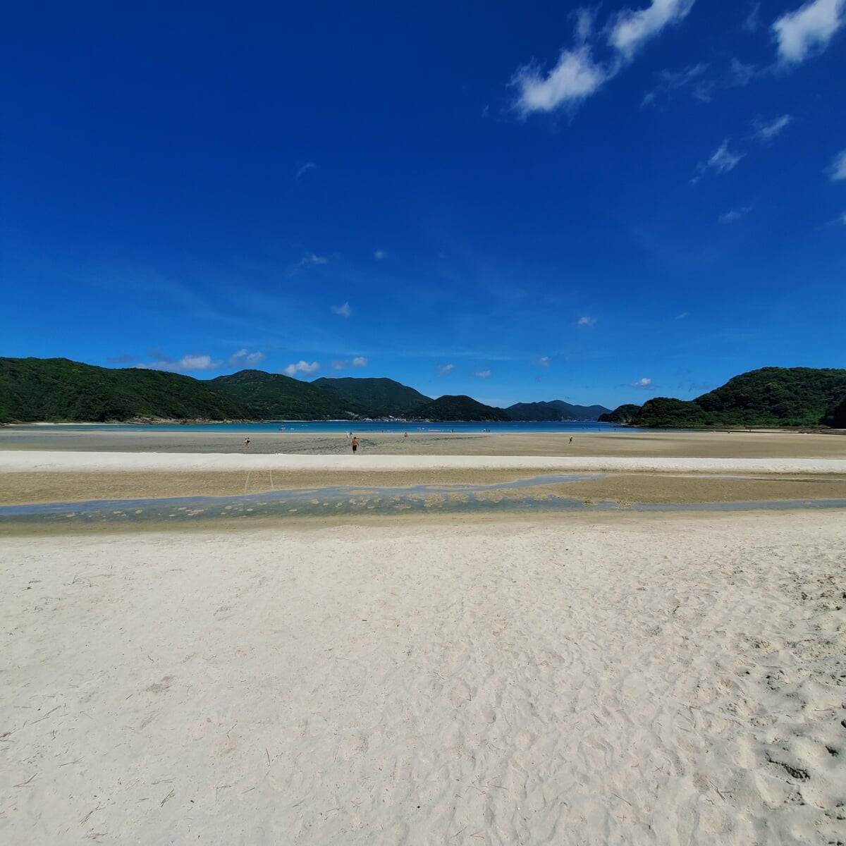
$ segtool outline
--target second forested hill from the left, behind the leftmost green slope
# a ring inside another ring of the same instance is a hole
[[[343,420],[372,416],[371,409],[363,405],[282,373],[244,370],[231,376],[217,376],[208,383],[218,393],[250,409],[254,417],[265,420]]]

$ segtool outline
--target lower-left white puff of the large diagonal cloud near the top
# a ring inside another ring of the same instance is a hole
[[[514,74],[512,85],[519,89],[515,107],[524,116],[552,112],[591,96],[608,78],[607,70],[593,63],[588,47],[564,50],[545,77],[532,66]]]

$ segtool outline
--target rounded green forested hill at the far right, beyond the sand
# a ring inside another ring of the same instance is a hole
[[[846,370],[762,367],[693,400],[650,399],[632,422],[646,427],[836,425],[844,400]]]

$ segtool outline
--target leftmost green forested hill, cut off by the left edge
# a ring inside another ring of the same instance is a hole
[[[153,370],[80,364],[68,359],[0,358],[0,422],[242,420],[244,406],[207,382]]]

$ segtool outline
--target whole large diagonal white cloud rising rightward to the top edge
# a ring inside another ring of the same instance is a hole
[[[695,0],[651,0],[640,11],[626,9],[615,15],[606,30],[612,58],[607,63],[593,58],[589,43],[593,34],[593,14],[580,9],[575,17],[574,47],[563,49],[552,70],[545,72],[536,63],[519,68],[510,85],[517,89],[514,109],[522,117],[534,112],[554,112],[574,107],[613,79],[647,41],[671,24],[683,20]]]

